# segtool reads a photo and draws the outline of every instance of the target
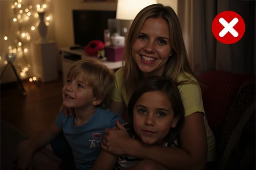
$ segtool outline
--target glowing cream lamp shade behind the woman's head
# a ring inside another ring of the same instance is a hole
[[[156,0],[118,0],[116,19],[133,20],[146,6],[156,4]]]

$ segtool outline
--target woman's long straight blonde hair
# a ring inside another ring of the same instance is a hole
[[[191,77],[194,77],[195,79],[196,77],[188,62],[178,16],[170,6],[153,4],[143,8],[137,14],[126,38],[126,47],[123,55],[123,86],[126,89],[127,94],[131,95],[138,82],[143,80],[142,73],[132,57],[132,46],[139,36],[143,23],[148,18],[163,18],[169,26],[172,54],[167,60],[162,76],[164,78],[172,79],[177,85],[197,83],[197,81],[191,80]],[[181,73],[188,73],[184,74],[186,80],[178,81]]]

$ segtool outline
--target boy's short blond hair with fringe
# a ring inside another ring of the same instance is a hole
[[[100,61],[83,59],[70,67],[67,78],[76,78],[80,73],[86,85],[92,88],[94,97],[102,100],[99,106],[107,108],[114,88],[114,72]]]

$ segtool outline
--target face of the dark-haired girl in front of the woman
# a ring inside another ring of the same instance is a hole
[[[163,139],[176,126],[177,121],[172,104],[163,92],[146,92],[134,105],[134,130],[149,145],[163,145]]]

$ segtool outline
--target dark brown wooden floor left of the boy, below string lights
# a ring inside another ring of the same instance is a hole
[[[62,103],[62,79],[40,83],[23,81],[27,96],[17,82],[1,84],[1,118],[29,138],[55,120]]]

